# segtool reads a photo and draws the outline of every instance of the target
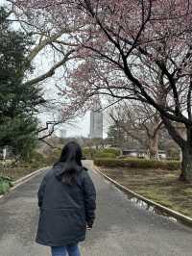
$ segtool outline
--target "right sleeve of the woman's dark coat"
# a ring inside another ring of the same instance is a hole
[[[87,172],[84,174],[84,209],[88,227],[92,227],[95,219],[96,190]]]

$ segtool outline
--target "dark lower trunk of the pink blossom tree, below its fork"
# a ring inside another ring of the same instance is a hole
[[[192,183],[192,147],[182,148],[180,180]]]

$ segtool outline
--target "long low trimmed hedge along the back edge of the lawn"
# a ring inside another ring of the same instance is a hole
[[[111,159],[97,158],[94,160],[96,166],[107,167],[130,167],[130,168],[161,168],[161,169],[180,169],[180,161],[155,161],[146,159]]]

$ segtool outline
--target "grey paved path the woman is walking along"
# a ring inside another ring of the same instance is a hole
[[[86,166],[90,166],[86,162]],[[87,233],[84,256],[192,256],[192,229],[135,208],[99,174],[95,228]],[[0,256],[48,256],[34,242],[38,209],[36,191],[42,174],[0,200]]]

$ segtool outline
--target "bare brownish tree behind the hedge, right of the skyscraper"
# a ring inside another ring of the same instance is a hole
[[[125,136],[148,150],[150,158],[158,158],[158,137],[162,120],[156,109],[144,103],[128,104],[123,101],[111,109],[109,116]]]

